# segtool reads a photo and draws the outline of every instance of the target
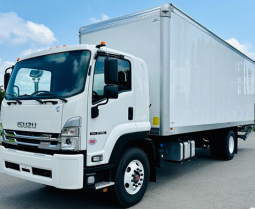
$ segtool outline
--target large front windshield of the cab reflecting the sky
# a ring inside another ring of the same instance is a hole
[[[14,95],[19,99],[29,99],[26,95],[40,97],[71,97],[81,93],[90,61],[90,52],[69,51],[30,58],[15,65],[7,87],[7,99]],[[9,94],[9,96],[8,96]],[[31,98],[30,98],[31,99]]]

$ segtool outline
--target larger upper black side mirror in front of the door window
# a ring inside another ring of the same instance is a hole
[[[106,58],[104,60],[104,82],[107,85],[118,84],[118,59]]]

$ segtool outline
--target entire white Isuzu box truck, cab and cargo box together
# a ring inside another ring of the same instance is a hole
[[[172,4],[79,37],[6,70],[1,172],[61,189],[114,185],[129,207],[165,161],[195,147],[234,157],[254,124],[253,60]]]

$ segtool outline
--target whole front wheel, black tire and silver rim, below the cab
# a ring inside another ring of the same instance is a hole
[[[123,207],[137,204],[144,196],[150,175],[148,158],[143,150],[129,148],[122,155],[115,177],[115,194]]]

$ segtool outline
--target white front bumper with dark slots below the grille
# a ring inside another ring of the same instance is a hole
[[[7,168],[6,162],[19,169]],[[61,189],[83,187],[83,155],[44,155],[0,146],[0,172]],[[39,173],[38,173],[39,171]],[[48,177],[41,172],[51,173]]]

